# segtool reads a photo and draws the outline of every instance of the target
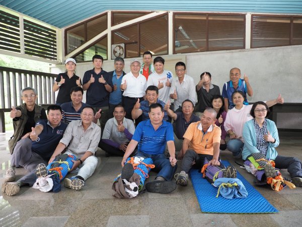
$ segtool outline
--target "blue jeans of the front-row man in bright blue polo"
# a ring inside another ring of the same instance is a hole
[[[155,172],[158,172],[157,177],[163,177],[167,181],[171,181],[173,179],[174,173],[177,169],[177,164],[175,166],[172,166],[169,158],[166,158],[165,153],[147,154],[142,151],[138,151],[135,156],[152,158],[153,164],[155,165],[155,168],[153,168],[153,170]]]

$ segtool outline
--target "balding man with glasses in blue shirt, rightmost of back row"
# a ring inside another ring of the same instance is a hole
[[[241,70],[239,68],[233,68],[230,71],[230,81],[224,83],[222,88],[222,97],[224,98],[224,109],[227,112],[229,109],[234,108],[232,100],[232,94],[234,91],[242,91],[249,96],[253,96],[253,89],[250,85],[249,78],[244,74],[241,78]],[[245,97],[244,104],[248,105],[248,100]]]

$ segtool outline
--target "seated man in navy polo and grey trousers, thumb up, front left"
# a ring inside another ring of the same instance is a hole
[[[48,106],[47,116],[48,121],[39,120],[36,127],[32,128],[29,135],[30,139],[24,138],[17,143],[11,157],[11,166],[2,185],[2,192],[5,194],[16,195],[21,186],[33,186],[36,181],[37,165],[47,163],[60,139],[62,139],[67,125],[61,122],[61,107],[58,105]],[[8,183],[15,181],[15,168],[19,166],[23,166],[30,173],[17,182]]]

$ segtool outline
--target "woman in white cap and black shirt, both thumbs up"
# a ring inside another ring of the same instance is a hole
[[[81,86],[81,79],[77,75],[75,75],[75,67],[77,63],[74,59],[66,59],[65,61],[65,73],[60,73],[57,78],[55,79],[55,82],[53,84],[52,90],[56,92],[59,90],[57,98],[56,98],[56,104],[61,105],[64,102],[70,102],[70,89],[75,86]]]

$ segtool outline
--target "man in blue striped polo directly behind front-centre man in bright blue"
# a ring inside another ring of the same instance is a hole
[[[147,87],[146,90],[146,100],[139,102],[136,101],[131,115],[132,119],[137,119],[139,116],[142,115],[142,121],[149,120],[149,106],[153,103],[159,103],[165,107],[165,103],[159,99],[159,89],[157,86],[150,85]],[[168,121],[168,114],[164,111],[164,121]]]

